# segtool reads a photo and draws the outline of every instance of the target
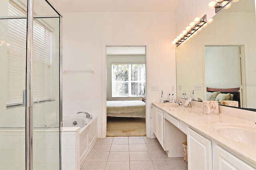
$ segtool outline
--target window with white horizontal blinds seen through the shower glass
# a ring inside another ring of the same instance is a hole
[[[9,16],[26,16],[26,11],[13,1]],[[20,106],[26,88],[26,18],[8,19],[7,107]],[[50,64],[52,32],[40,21],[33,23],[33,100],[50,100]]]

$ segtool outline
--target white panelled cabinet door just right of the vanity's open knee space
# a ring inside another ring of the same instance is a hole
[[[188,170],[212,170],[212,141],[187,128]]]

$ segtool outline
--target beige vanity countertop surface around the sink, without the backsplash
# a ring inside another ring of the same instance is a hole
[[[186,123],[188,127],[194,129],[204,137],[210,139],[211,141],[217,142],[222,147],[237,154],[239,157],[256,166],[256,142],[255,145],[247,145],[237,141],[233,141],[222,137],[214,129],[218,123],[230,123],[230,124],[242,124],[249,125],[250,127],[256,125],[252,122],[244,121],[234,117],[229,117],[227,115],[205,115],[203,110],[198,107],[184,107],[179,106],[176,103],[152,103],[154,106],[158,107],[162,111],[167,112],[172,117]],[[218,125],[217,125],[218,126]],[[253,127],[254,128],[254,127]],[[255,134],[255,133],[253,133]],[[256,136],[252,136],[252,140],[256,141]],[[246,162],[248,162],[246,161]]]

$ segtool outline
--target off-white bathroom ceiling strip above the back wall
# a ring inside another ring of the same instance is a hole
[[[59,12],[174,12],[182,0],[50,0]]]

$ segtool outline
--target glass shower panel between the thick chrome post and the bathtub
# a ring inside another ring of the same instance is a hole
[[[33,168],[60,169],[60,15],[34,0]]]

